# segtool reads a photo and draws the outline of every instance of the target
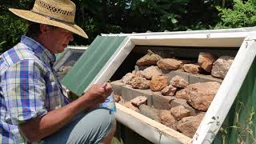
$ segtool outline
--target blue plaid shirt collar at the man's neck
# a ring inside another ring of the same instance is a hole
[[[42,46],[39,42],[35,41],[33,38],[29,38],[26,35],[22,35],[21,42],[28,46],[30,50],[34,52],[35,55],[38,56],[42,62],[50,63],[52,66],[55,62],[55,55],[51,54],[46,47]]]

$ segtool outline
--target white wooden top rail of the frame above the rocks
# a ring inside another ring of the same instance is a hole
[[[175,34],[131,36],[135,45],[142,46],[204,46],[204,47],[240,47],[249,33],[214,34]]]

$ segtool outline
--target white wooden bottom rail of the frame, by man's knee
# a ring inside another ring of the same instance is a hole
[[[150,140],[153,143],[191,143],[191,138],[178,133],[167,126],[162,125],[153,119],[147,118],[142,114],[138,114],[134,110],[130,110],[125,106],[116,103],[117,113],[115,114],[118,122],[134,130],[142,137]],[[161,140],[162,139],[162,140]]]

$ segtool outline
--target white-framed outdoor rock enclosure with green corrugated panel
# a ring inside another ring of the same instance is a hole
[[[150,142],[215,142],[237,95],[254,90],[244,87],[256,70],[254,45],[254,33],[244,29],[107,34],[94,40],[62,84],[81,95],[111,80],[118,122]],[[145,54],[154,60],[141,61]]]

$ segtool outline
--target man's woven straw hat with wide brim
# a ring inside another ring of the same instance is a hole
[[[32,10],[9,9],[18,17],[31,22],[58,26],[83,38],[88,38],[81,27],[74,24],[75,4],[70,0],[35,0]]]

